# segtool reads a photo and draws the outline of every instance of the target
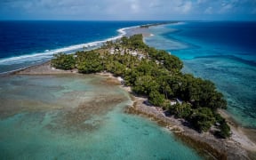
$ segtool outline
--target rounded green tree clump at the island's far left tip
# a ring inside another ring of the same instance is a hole
[[[52,67],[60,68],[64,70],[72,69],[76,67],[76,60],[73,54],[58,53],[54,54],[52,58]]]

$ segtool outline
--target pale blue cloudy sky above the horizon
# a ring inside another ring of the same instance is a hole
[[[0,0],[0,20],[256,20],[256,0]]]

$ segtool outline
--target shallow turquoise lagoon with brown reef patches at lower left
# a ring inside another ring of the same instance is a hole
[[[202,159],[99,76],[0,78],[1,159]]]

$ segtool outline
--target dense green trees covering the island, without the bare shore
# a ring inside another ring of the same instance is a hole
[[[215,124],[216,135],[223,138],[230,135],[228,124],[217,113],[218,108],[227,108],[227,102],[215,85],[181,73],[183,64],[179,58],[148,47],[142,35],[124,36],[93,51],[57,54],[52,66],[77,68],[85,74],[108,71],[122,76],[124,83],[132,86],[132,92],[147,96],[152,105],[186,119],[198,132],[206,132]]]

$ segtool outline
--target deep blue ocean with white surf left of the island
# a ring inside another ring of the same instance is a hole
[[[0,73],[50,60],[53,53],[92,48],[154,21],[0,21]]]

